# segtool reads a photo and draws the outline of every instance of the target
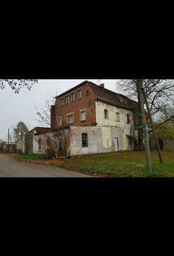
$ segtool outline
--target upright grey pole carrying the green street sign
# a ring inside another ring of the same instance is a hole
[[[138,81],[138,92],[141,103],[141,116],[142,116],[142,125],[146,127],[143,128],[144,134],[144,147],[146,151],[146,165],[149,170],[151,170],[151,159],[150,159],[150,143],[149,143],[149,135],[148,135],[148,126],[146,125],[146,115],[144,110],[144,97],[143,97],[143,81],[139,79]]]

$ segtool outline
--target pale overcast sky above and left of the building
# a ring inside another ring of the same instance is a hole
[[[13,90],[7,85],[5,89],[0,91],[0,139],[8,140],[8,128],[15,126],[19,121],[26,123],[31,130],[35,126],[40,126],[36,121],[35,106],[41,107],[44,105],[45,97],[55,91],[58,94],[67,91],[73,86],[77,86],[85,80],[99,84],[97,79],[65,79],[65,80],[39,80],[31,91],[24,88],[19,94],[14,94]],[[102,80],[106,89],[117,91],[116,80]],[[12,130],[11,130],[12,131]]]

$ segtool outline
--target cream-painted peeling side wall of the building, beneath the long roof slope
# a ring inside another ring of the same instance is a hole
[[[107,139],[109,140],[109,147],[111,147],[111,138],[115,136],[116,138],[119,138],[119,145],[121,145],[120,150],[129,150],[130,147],[127,135],[137,136],[137,132],[135,133],[133,130],[133,112],[127,109],[121,109],[116,108],[115,106],[110,106],[106,103],[102,103],[101,101],[96,101],[95,109],[97,126],[102,127],[102,140],[104,143],[104,148],[106,148]],[[104,109],[108,110],[108,119],[104,118]],[[119,113],[120,121],[116,121],[116,113]],[[131,123],[129,124],[127,123],[127,114],[130,115]],[[111,127],[114,130],[111,129]]]

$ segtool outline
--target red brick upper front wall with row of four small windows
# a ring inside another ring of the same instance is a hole
[[[82,97],[78,99],[78,91],[82,90]],[[70,94],[75,93],[75,101],[71,101]],[[66,104],[65,96],[69,96],[69,103]],[[60,99],[63,99],[63,106],[60,106]],[[80,121],[80,110],[85,111],[85,121]],[[67,125],[67,115],[73,114],[73,123],[75,126],[95,125],[95,95],[88,86],[88,83],[82,83],[76,89],[72,88],[68,92],[57,96],[55,109],[52,108],[51,127],[58,127],[58,118],[62,118],[62,126]],[[54,118],[55,117],[55,118]]]

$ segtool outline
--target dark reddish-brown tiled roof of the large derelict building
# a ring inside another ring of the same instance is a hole
[[[130,110],[138,111],[138,103],[136,101],[133,101],[132,99],[129,99],[128,97],[126,97],[122,94],[110,91],[102,86],[97,86],[97,84],[94,84],[93,82],[89,82],[87,80],[84,82],[81,82],[80,84],[78,84],[75,87],[72,87],[68,91],[63,92],[62,94],[56,96],[55,98],[62,97],[63,95],[68,94],[68,92],[73,91],[73,90],[79,88],[80,86],[83,86],[84,84],[89,85],[89,87],[92,90],[92,92],[94,93],[96,99],[99,99],[100,101],[109,103],[113,106],[118,106],[119,108],[126,108],[126,109],[130,109]],[[121,102],[121,97],[126,99],[126,102]]]

